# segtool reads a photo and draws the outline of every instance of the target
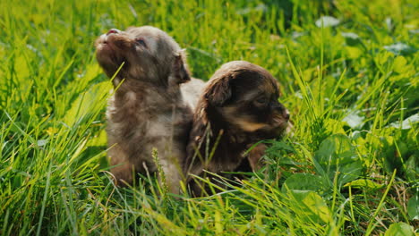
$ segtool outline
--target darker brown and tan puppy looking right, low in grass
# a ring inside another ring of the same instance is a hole
[[[287,128],[289,114],[278,97],[277,80],[261,66],[244,61],[222,65],[196,107],[184,172],[205,177],[204,170],[221,174],[257,168],[264,145],[249,156],[244,152]],[[194,196],[206,189],[191,175],[187,183]]]

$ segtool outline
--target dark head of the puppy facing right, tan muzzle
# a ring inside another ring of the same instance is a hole
[[[207,112],[217,113],[218,122],[258,139],[275,138],[286,130],[289,114],[278,97],[278,81],[261,66],[244,61],[224,64],[203,95]]]

